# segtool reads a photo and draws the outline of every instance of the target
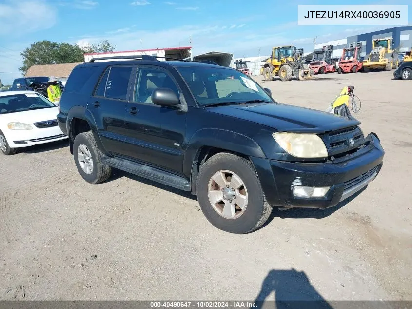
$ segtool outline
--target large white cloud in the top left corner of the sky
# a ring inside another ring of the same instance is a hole
[[[18,36],[20,31],[16,29],[24,29],[21,34],[49,29],[56,24],[56,20],[56,9],[45,2],[6,0],[0,3],[0,37],[10,36],[10,33]]]

